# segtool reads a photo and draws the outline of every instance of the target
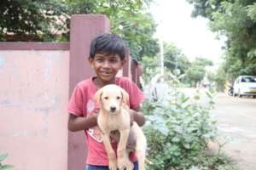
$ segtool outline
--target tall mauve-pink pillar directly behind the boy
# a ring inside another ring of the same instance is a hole
[[[109,20],[102,14],[75,14],[71,19],[69,96],[75,85],[94,75],[88,62],[91,40],[109,31]],[[68,133],[68,170],[84,169],[84,132]]]

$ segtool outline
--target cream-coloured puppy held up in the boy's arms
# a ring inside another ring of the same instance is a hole
[[[101,109],[97,118],[98,126],[101,129],[103,144],[108,154],[108,168],[110,170],[133,170],[133,163],[129,160],[129,153],[133,150],[126,149],[129,133],[133,133],[136,138],[135,153],[139,165],[139,170],[144,170],[146,154],[146,138],[143,130],[133,122],[130,122],[130,109],[128,107],[129,95],[123,88],[117,85],[106,85],[95,94],[95,99],[101,104]],[[119,131],[119,143],[117,157],[111,146],[111,132]]]

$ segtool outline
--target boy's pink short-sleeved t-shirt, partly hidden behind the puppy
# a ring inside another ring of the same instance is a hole
[[[68,104],[68,112],[75,116],[89,116],[93,114],[96,103],[94,101],[94,94],[97,88],[94,84],[93,77],[79,82],[73,90],[73,95]],[[137,88],[137,85],[127,77],[116,77],[115,84],[124,88],[130,95],[130,108],[136,109],[143,102],[143,92]],[[108,156],[102,143],[99,128],[91,127],[84,130],[85,141],[88,148],[88,155],[86,163],[89,165],[108,166]],[[112,141],[114,150],[117,148],[116,142]],[[130,155],[131,161],[136,161],[134,153]]]

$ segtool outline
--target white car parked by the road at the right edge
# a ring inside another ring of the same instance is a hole
[[[233,85],[234,96],[239,97],[243,95],[250,95],[256,98],[256,77],[253,76],[240,76],[236,78]]]

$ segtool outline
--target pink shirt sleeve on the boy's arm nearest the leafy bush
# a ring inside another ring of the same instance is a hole
[[[130,82],[130,87],[129,87],[129,96],[130,96],[130,108],[131,109],[137,109],[144,100],[144,94],[140,90],[140,88],[137,87],[137,84],[135,82]]]

